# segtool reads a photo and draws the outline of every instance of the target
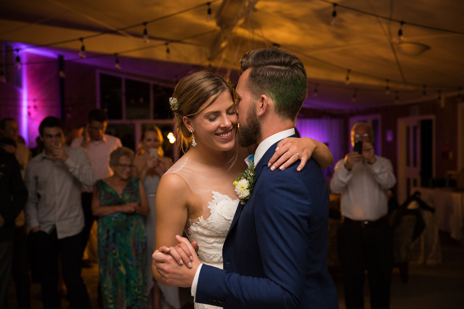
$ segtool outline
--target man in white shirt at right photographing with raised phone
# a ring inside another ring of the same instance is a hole
[[[396,183],[389,159],[374,154],[374,132],[364,122],[351,129],[353,152],[335,165],[330,189],[341,193],[343,223],[337,234],[347,309],[364,307],[367,270],[371,308],[390,307],[392,231],[387,222],[388,189]]]

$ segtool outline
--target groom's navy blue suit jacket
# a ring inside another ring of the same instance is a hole
[[[195,301],[236,309],[338,308],[327,270],[329,192],[316,161],[283,171],[258,162],[250,200],[238,205],[224,270],[203,265]]]

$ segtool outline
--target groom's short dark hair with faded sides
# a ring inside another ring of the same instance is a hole
[[[262,94],[271,97],[282,119],[296,118],[308,95],[308,80],[303,62],[288,51],[259,48],[240,59],[240,69],[250,69],[247,87],[254,99]]]

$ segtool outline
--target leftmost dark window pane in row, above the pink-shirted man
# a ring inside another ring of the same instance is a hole
[[[100,106],[108,119],[122,119],[121,77],[100,74]]]

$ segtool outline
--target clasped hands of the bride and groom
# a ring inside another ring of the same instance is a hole
[[[175,247],[161,246],[153,255],[153,265],[156,267],[154,276],[161,276],[161,280],[168,285],[191,287],[193,278],[200,265],[196,254],[199,246],[194,241],[190,244],[187,238],[175,236],[179,245]],[[155,277],[155,279],[157,279]],[[158,279],[157,279],[158,280]]]

